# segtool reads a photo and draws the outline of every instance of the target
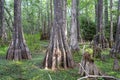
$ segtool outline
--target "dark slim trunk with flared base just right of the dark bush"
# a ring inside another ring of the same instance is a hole
[[[98,24],[97,24],[98,44],[101,48],[108,47],[103,30],[103,0],[98,0]]]

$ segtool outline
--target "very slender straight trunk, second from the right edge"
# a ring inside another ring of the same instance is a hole
[[[112,17],[113,0],[110,0],[110,47],[113,45],[113,17]]]

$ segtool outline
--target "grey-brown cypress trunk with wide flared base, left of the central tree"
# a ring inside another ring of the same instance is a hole
[[[22,60],[31,59],[31,54],[25,43],[21,25],[21,0],[14,0],[14,31],[11,44],[7,51],[6,59]]]

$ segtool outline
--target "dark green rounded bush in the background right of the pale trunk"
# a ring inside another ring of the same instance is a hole
[[[85,40],[92,40],[96,34],[96,25],[95,23],[87,17],[81,17],[81,34]]]

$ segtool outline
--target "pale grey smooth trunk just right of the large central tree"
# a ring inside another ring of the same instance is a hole
[[[76,17],[76,0],[72,0],[71,10],[71,31],[70,31],[70,48],[72,51],[79,50],[78,38],[77,38],[77,17]]]

